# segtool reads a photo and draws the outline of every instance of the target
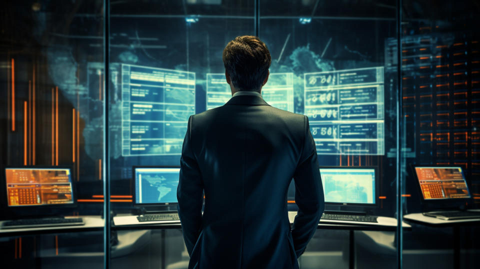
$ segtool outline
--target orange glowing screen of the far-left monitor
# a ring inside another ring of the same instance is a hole
[[[69,168],[5,168],[8,206],[72,204]]]

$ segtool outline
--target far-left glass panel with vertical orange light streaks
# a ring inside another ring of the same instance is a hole
[[[103,266],[103,77],[88,67],[103,65],[102,7],[101,0],[0,4],[0,258],[6,267]],[[5,223],[63,216],[84,224],[7,229]]]

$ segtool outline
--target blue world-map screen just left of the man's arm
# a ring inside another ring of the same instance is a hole
[[[135,203],[175,203],[179,167],[134,167]]]

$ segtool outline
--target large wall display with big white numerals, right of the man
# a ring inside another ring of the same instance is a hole
[[[304,74],[318,154],[383,155],[383,67]]]

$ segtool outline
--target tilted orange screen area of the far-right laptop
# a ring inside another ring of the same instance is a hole
[[[426,200],[470,198],[460,166],[415,166],[415,173]]]

